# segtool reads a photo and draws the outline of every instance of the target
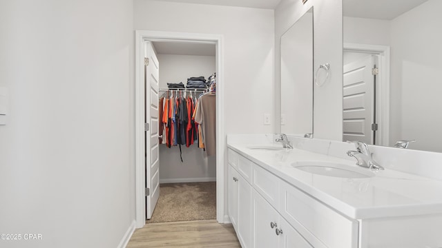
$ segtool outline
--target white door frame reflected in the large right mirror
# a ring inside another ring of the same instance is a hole
[[[359,43],[344,43],[344,52],[364,52],[378,54],[379,74],[376,92],[376,120],[383,127],[378,131],[376,145],[389,146],[390,144],[390,46],[369,45]]]

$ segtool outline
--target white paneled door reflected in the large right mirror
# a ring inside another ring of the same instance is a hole
[[[375,54],[345,52],[343,71],[343,141],[376,145]]]

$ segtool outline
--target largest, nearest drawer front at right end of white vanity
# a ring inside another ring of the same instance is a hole
[[[311,245],[316,247],[314,243],[320,240],[329,248],[358,247],[356,220],[341,216],[283,180],[280,182],[280,189],[280,214],[307,238]]]

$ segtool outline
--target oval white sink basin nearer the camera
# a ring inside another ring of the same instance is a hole
[[[323,161],[302,161],[291,163],[292,167],[304,172],[340,178],[369,178],[375,176],[368,168],[357,165],[343,165]]]

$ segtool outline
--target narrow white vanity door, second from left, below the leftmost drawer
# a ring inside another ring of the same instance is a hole
[[[238,238],[242,248],[251,247],[251,185],[238,178]]]

